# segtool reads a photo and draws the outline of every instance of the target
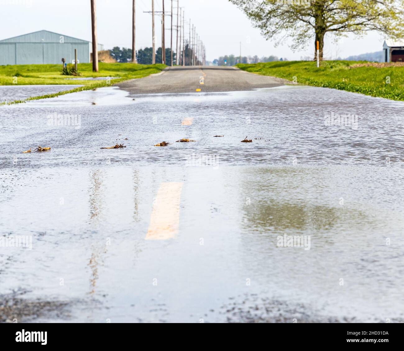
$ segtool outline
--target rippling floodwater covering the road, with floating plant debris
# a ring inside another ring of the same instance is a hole
[[[404,103],[303,86],[126,95],[0,108],[0,235],[32,240],[0,241],[0,296],[53,303],[4,319],[404,321]],[[21,153],[38,145],[52,149]]]

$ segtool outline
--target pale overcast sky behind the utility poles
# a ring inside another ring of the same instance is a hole
[[[137,45],[151,46],[151,0],[136,0]],[[176,8],[177,2],[174,1]],[[258,29],[228,0],[179,0],[185,11],[185,35],[189,37],[189,19],[205,43],[207,59],[224,55],[286,57],[299,60],[313,56],[311,49],[293,52],[287,43],[274,47],[274,42],[262,38]],[[165,0],[166,11],[171,1]],[[131,47],[132,0],[97,0],[98,41],[105,49],[113,46]],[[155,10],[162,10],[162,0],[155,0]],[[177,24],[177,17],[174,24]],[[170,17],[166,17],[166,27]],[[0,0],[0,40],[46,29],[80,39],[91,40],[90,0]],[[324,55],[335,59],[382,50],[383,37],[370,33],[364,38],[350,36],[339,44],[328,40]],[[174,43],[176,34],[174,32]],[[156,16],[156,43],[161,46],[161,18]],[[170,31],[166,31],[166,47],[170,46]],[[175,46],[175,44],[174,44]]]

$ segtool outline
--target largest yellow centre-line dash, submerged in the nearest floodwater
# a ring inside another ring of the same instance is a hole
[[[161,183],[145,240],[168,240],[178,234],[179,205],[183,183]]]

